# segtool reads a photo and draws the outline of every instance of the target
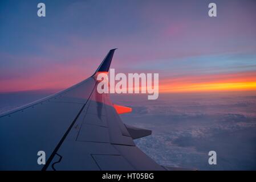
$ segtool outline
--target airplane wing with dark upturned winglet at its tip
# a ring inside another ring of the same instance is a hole
[[[108,72],[114,52],[95,74]],[[95,74],[0,115],[1,170],[166,169],[135,146],[133,139],[151,131],[124,125],[109,94],[97,92]],[[45,152],[46,164],[38,164],[38,151]]]

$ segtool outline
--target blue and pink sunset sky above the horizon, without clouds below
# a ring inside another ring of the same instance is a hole
[[[255,19],[255,1],[3,0],[0,92],[67,88],[112,48],[111,68],[159,73],[163,93],[256,90]]]

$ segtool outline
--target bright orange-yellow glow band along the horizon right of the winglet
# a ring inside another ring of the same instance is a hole
[[[256,90],[256,73],[188,76],[162,80],[160,93]]]

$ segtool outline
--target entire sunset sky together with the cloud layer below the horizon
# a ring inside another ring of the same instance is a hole
[[[255,0],[1,0],[0,114],[84,80],[118,48],[116,73],[159,73],[157,100],[111,96],[132,107],[125,123],[153,131],[141,150],[164,166],[255,170],[255,19]]]

